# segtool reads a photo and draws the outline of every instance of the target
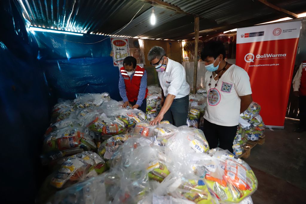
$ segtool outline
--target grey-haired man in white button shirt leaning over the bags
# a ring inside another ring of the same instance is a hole
[[[158,72],[162,87],[162,109],[150,124],[156,125],[162,120],[168,120],[177,127],[186,125],[190,87],[186,81],[185,68],[167,58],[165,50],[158,46],[151,48],[148,60]]]

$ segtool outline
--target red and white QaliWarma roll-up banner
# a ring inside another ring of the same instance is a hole
[[[293,21],[237,29],[236,64],[248,72],[267,126],[284,126],[300,27]]]

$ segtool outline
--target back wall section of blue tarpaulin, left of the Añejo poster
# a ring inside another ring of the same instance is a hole
[[[54,100],[73,99],[76,93],[102,92],[121,100],[119,69],[113,65],[109,37],[33,33],[39,45],[39,63]]]

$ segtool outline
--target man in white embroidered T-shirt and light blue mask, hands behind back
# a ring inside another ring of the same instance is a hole
[[[225,47],[219,41],[207,43],[201,52],[207,70],[203,132],[210,148],[219,142],[220,148],[233,152],[238,120],[252,102],[252,90],[248,73],[227,63],[225,57]]]

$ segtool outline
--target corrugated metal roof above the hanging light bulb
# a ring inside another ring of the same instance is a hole
[[[183,40],[194,36],[194,16],[200,16],[200,35],[285,17],[257,0],[163,0],[189,13],[155,5],[156,25],[150,24],[152,4],[141,0],[18,0],[33,26],[111,35],[129,23],[120,36]],[[269,0],[293,13],[306,11],[305,0]],[[142,8],[142,9],[140,9]]]

